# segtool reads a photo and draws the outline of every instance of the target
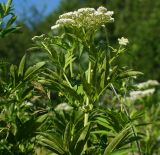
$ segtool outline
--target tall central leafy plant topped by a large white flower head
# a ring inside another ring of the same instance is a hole
[[[105,7],[81,8],[62,14],[49,35],[32,38],[33,49],[41,49],[49,58],[38,82],[48,89],[50,99],[51,91],[56,91],[62,109],[66,107],[71,113],[67,120],[68,112],[62,110],[63,117],[66,116],[63,120],[56,112],[53,129],[38,136],[38,143],[54,153],[107,155],[121,147],[123,152],[123,146],[135,140],[133,149],[136,146],[141,151],[132,118],[121,102],[126,81],[141,73],[116,64],[129,41],[123,37],[118,39],[118,48],[109,45],[107,36],[97,41],[100,31],[107,34],[107,24],[114,21],[112,15]],[[106,105],[104,100],[108,94],[119,104]],[[119,109],[120,113],[112,109]],[[83,126],[78,123],[80,118],[84,120]],[[57,121],[67,123],[62,128]],[[114,126],[116,121],[118,124]]]

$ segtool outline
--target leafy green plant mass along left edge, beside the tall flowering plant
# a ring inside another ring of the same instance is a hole
[[[45,120],[42,114],[35,111],[29,102],[33,98],[34,90],[31,82],[37,77],[35,74],[44,62],[39,62],[25,70],[26,55],[20,65],[11,65],[9,75],[7,66],[1,70],[0,81],[0,152],[1,154],[19,154],[33,152],[35,132]],[[43,116],[43,117],[42,117]]]

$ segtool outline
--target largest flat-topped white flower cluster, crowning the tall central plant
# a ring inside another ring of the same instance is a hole
[[[108,22],[113,22],[113,11],[107,11],[105,7],[99,7],[97,10],[94,8],[81,8],[74,12],[68,12],[59,16],[56,25],[51,29],[57,29],[60,26],[69,27],[84,27],[85,29],[95,29]]]

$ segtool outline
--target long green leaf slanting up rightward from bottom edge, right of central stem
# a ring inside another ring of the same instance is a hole
[[[123,129],[106,147],[103,155],[109,155],[113,152],[116,146],[130,133],[130,127]]]

